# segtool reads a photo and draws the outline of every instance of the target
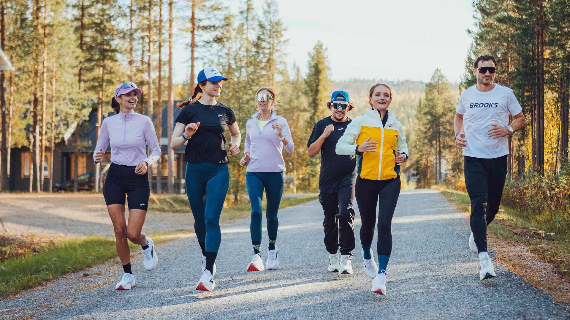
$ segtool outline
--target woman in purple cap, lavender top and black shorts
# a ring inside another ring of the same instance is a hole
[[[152,239],[141,232],[150,195],[146,169],[161,155],[152,121],[134,110],[137,96],[142,93],[131,81],[117,86],[115,96],[111,99],[111,108],[116,114],[103,120],[93,153],[93,161],[99,163],[111,144],[111,167],[103,185],[103,196],[115,229],[117,253],[125,272],[115,286],[116,290],[129,290],[135,285],[127,240],[142,247],[146,270],[153,270],[158,264]],[[148,156],[146,145],[151,151]],[[129,203],[128,225],[125,221],[125,195]]]

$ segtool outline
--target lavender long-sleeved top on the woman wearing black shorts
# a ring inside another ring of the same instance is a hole
[[[119,114],[103,120],[97,146],[93,152],[93,162],[95,162],[95,153],[101,149],[107,150],[109,143],[111,143],[111,162],[117,165],[136,166],[145,161],[150,167],[162,154],[152,121],[149,117],[136,113],[135,110],[129,113],[119,111]],[[148,157],[146,145],[150,148]]]

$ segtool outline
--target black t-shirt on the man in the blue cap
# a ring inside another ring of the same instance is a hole
[[[351,118],[348,121],[336,122],[331,117],[322,118],[313,127],[311,137],[307,142],[310,147],[324,132],[328,125],[335,126],[335,131],[324,140],[320,150],[321,169],[319,175],[320,192],[336,192],[340,186],[356,183],[356,155],[336,154],[336,142],[343,136]],[[355,146],[356,148],[356,146]]]

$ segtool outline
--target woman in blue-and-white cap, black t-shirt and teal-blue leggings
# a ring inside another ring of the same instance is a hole
[[[176,127],[170,147],[186,145],[186,194],[194,215],[194,232],[202,249],[202,277],[196,290],[214,289],[215,258],[218,255],[222,233],[219,216],[226,199],[230,175],[227,152],[239,154],[241,134],[233,110],[216,101],[222,91],[222,80],[227,80],[215,68],[198,73],[198,85],[189,101],[178,104],[182,111],[176,118]],[[192,102],[202,93],[200,99]],[[192,102],[192,103],[191,103]],[[226,149],[226,129],[231,142]]]

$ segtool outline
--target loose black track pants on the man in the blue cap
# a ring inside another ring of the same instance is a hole
[[[356,247],[355,210],[352,208],[354,198],[355,186],[351,184],[341,186],[337,192],[319,194],[324,211],[324,245],[332,255],[339,251],[339,244],[341,255],[352,256]]]

